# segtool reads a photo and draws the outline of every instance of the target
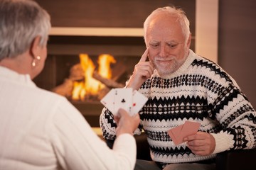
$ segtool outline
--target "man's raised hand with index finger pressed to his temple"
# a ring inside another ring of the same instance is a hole
[[[154,66],[149,61],[146,62],[146,58],[149,55],[149,49],[146,49],[139,62],[134,67],[132,77],[129,79],[127,87],[131,87],[134,90],[138,90],[140,86],[149,79],[154,72]]]

